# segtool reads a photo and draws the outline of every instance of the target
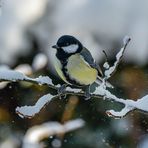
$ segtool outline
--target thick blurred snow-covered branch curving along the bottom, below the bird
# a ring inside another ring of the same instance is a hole
[[[83,127],[85,122],[82,119],[76,119],[60,124],[59,122],[47,122],[30,128],[23,140],[23,148],[41,148],[39,143],[44,138],[53,135],[67,133]]]

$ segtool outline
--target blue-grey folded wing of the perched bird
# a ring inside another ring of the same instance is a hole
[[[102,76],[102,70],[100,69],[99,65],[96,64],[94,58],[92,57],[91,53],[88,49],[83,47],[82,51],[80,52],[80,55],[84,58],[84,60],[92,67],[95,68],[98,71],[98,75]]]

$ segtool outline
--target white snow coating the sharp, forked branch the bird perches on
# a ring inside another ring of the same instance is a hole
[[[144,112],[148,112],[148,95],[139,98],[137,101],[133,101],[130,99],[123,99],[123,98],[118,98],[114,94],[112,94],[109,90],[107,90],[106,87],[106,80],[109,79],[113,73],[116,71],[122,57],[124,54],[124,51],[130,41],[129,37],[125,37],[123,41],[123,47],[120,49],[120,51],[116,55],[116,61],[114,62],[113,66],[109,66],[107,62],[105,62],[105,76],[103,78],[102,84],[96,88],[96,90],[91,94],[93,98],[99,98],[99,99],[107,99],[110,101],[118,102],[124,105],[124,107],[120,111],[115,111],[115,110],[108,110],[106,111],[108,116],[115,117],[115,118],[121,118],[125,116],[127,113],[130,111],[133,111],[135,109],[141,110]],[[19,81],[26,81],[26,82],[31,82],[35,83],[38,85],[47,85],[48,87],[57,90],[59,89],[60,85],[55,86],[52,83],[52,80],[48,76],[40,76],[38,78],[30,78],[26,75],[24,75],[21,72],[11,70],[8,67],[1,66],[0,67],[0,81],[12,81],[12,82],[19,82]],[[81,89],[73,89],[70,87],[67,87],[66,90],[62,95],[78,95],[78,96],[85,96],[84,92]],[[22,107],[17,107],[16,112],[19,114],[21,117],[27,117],[31,118],[35,116],[37,113],[40,112],[40,110],[50,103],[54,98],[60,98],[61,94],[57,95],[51,95],[51,94],[46,94],[39,98],[39,100],[35,103],[35,105],[32,106],[22,106]]]

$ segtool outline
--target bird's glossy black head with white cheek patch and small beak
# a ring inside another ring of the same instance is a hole
[[[57,44],[52,46],[52,48],[56,48],[59,53],[71,55],[81,52],[83,46],[75,37],[63,35],[58,39]]]

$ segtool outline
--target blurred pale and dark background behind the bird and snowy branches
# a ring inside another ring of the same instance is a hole
[[[138,0],[1,0],[0,64],[30,77],[48,75],[63,83],[53,68],[51,46],[64,34],[77,37],[103,67],[105,50],[110,64],[122,47],[125,35],[131,42],[117,72],[110,79],[118,97],[137,100],[148,92],[148,1]],[[28,83],[0,84],[0,147],[19,148],[27,129],[47,121],[82,118],[79,130],[44,140],[62,148],[148,148],[148,116],[131,112],[123,119],[108,117],[116,102],[67,96],[55,99],[32,119],[15,113],[17,106],[33,105],[44,94],[55,92]]]

